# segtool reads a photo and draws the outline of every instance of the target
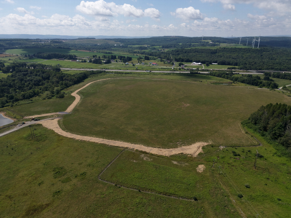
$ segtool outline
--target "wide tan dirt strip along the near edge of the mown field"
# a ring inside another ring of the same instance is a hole
[[[170,156],[173,154],[184,153],[184,154],[190,154],[193,157],[196,157],[198,155],[198,153],[202,152],[202,146],[209,144],[207,142],[197,142],[195,144],[191,144],[189,146],[183,146],[183,147],[179,147],[179,148],[160,149],[160,148],[153,148],[153,147],[148,147],[148,146],[144,146],[144,145],[140,145],[140,144],[131,144],[131,143],[127,143],[127,142],[119,142],[119,141],[113,141],[113,140],[108,140],[108,139],[101,139],[101,138],[95,138],[95,137],[90,137],[90,136],[83,136],[83,135],[76,135],[76,134],[68,133],[68,132],[63,131],[59,127],[58,119],[44,120],[44,121],[40,121],[39,123],[48,129],[52,129],[53,131],[55,131],[59,135],[73,138],[76,140],[84,140],[84,141],[88,141],[88,142],[96,142],[96,143],[108,144],[108,145],[112,145],[112,146],[137,149],[140,151],[145,151],[148,153],[163,155],[163,156]]]

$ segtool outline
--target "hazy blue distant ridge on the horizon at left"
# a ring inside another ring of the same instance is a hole
[[[133,39],[149,38],[152,36],[77,36],[77,35],[38,35],[38,34],[0,34],[0,39],[77,39],[77,38],[95,38],[95,39]]]

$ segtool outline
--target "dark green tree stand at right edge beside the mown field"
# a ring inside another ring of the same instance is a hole
[[[282,155],[291,157],[291,106],[269,103],[251,114],[243,125],[276,145]]]

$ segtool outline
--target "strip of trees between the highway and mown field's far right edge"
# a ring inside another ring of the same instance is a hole
[[[248,85],[255,85],[258,87],[265,87],[270,89],[278,88],[278,84],[268,76],[265,76],[263,80],[261,80],[260,76],[253,76],[252,74],[242,74],[242,76],[235,75],[233,72],[210,72],[209,74],[211,76],[221,77]]]

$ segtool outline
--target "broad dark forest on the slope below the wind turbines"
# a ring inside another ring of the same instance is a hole
[[[178,62],[218,63],[245,70],[291,71],[291,50],[284,48],[174,49],[159,55],[163,59],[168,56]]]

